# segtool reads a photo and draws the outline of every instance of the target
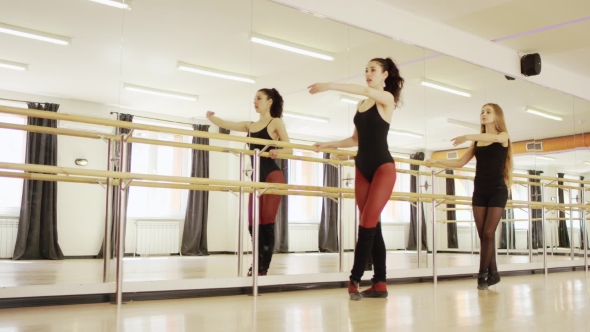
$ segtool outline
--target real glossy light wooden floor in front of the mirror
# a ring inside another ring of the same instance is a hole
[[[584,272],[390,285],[389,298],[348,300],[346,289],[0,310],[2,332],[590,331]]]

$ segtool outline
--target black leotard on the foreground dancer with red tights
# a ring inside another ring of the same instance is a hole
[[[379,166],[394,162],[387,145],[389,123],[383,120],[375,104],[365,112],[357,110],[354,125],[359,140],[355,165],[367,181],[371,182]]]

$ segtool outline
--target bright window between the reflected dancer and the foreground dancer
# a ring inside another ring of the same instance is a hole
[[[296,156],[322,158],[321,153],[295,151]],[[289,160],[289,184],[300,186],[324,185],[324,165],[301,160]],[[289,222],[319,223],[322,214],[322,197],[288,196]]]

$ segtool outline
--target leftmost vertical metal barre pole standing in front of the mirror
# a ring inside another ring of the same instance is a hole
[[[119,172],[125,171],[125,135],[121,135],[119,151]],[[123,236],[123,226],[125,220],[125,189],[123,189],[123,179],[119,179],[119,214],[117,216],[117,289],[116,303],[121,305],[123,302],[123,255],[125,254],[125,238]]]

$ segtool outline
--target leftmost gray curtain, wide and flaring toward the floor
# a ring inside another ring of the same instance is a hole
[[[57,112],[58,104],[28,103]],[[57,128],[56,120],[29,117],[29,126]],[[57,166],[57,136],[27,133],[26,164]],[[64,259],[57,240],[57,182],[24,180],[18,233],[12,259]]]

